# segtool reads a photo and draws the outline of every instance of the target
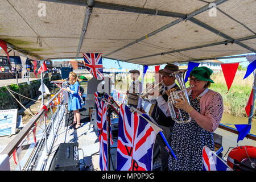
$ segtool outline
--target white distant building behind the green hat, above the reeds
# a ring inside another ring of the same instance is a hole
[[[221,64],[223,64],[219,60],[205,60],[199,61],[199,67],[207,67],[212,69],[213,72],[220,72],[221,71]],[[180,63],[179,69],[188,69],[188,62]]]

